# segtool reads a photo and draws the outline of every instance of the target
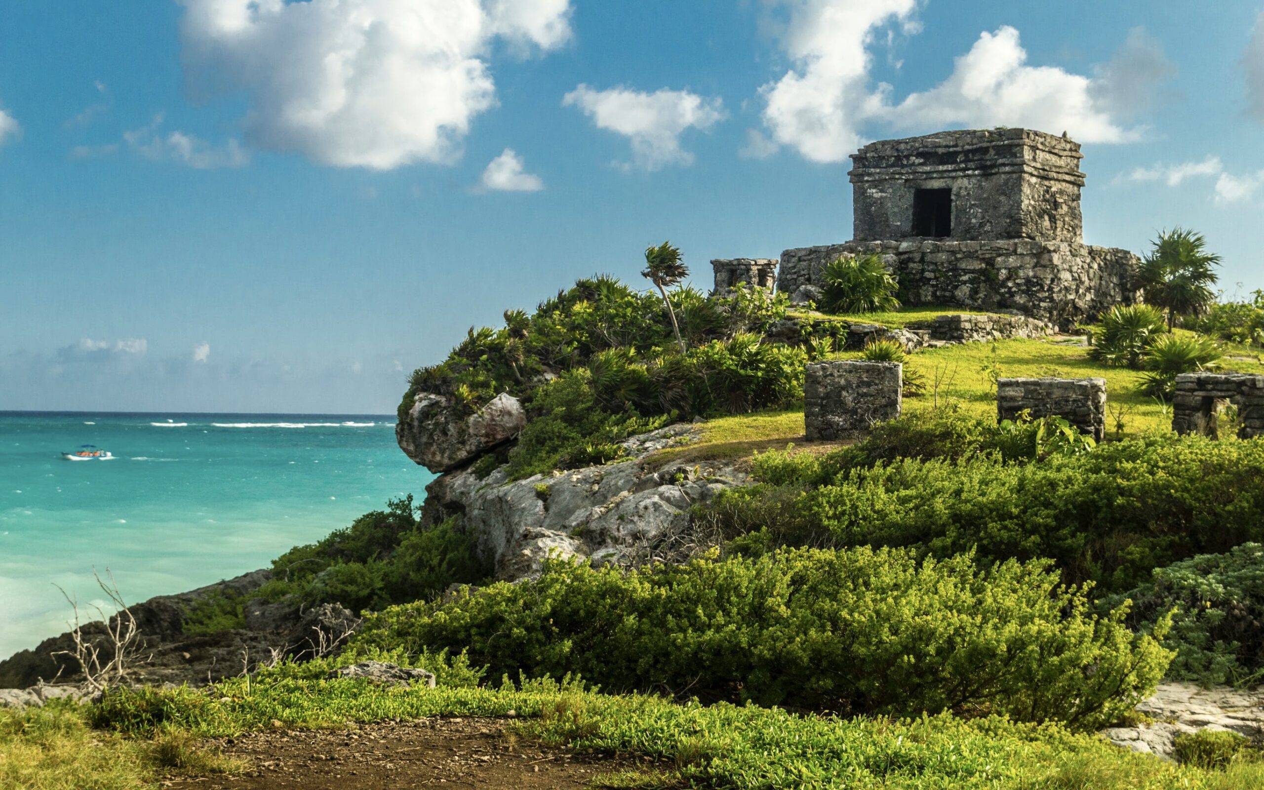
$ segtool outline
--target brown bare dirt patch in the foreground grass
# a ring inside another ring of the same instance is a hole
[[[402,790],[590,787],[623,760],[542,748],[504,732],[498,719],[422,719],[355,731],[272,731],[217,742],[250,770],[240,776],[164,781],[181,790]]]

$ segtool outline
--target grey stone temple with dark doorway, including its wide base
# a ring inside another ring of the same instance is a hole
[[[836,258],[876,253],[908,306],[1066,326],[1133,303],[1136,255],[1083,243],[1081,158],[1078,143],[1033,129],[870,143],[852,154],[854,239],[785,250],[777,288],[800,301]]]

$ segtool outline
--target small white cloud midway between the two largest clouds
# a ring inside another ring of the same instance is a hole
[[[694,154],[680,147],[680,135],[686,129],[709,129],[726,118],[719,97],[667,88],[647,94],[626,87],[595,91],[579,85],[561,104],[578,106],[599,129],[628,138],[632,164],[647,171],[691,164]]]

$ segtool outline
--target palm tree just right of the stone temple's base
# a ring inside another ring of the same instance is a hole
[[[1216,301],[1215,268],[1220,255],[1208,253],[1201,233],[1173,228],[1159,231],[1154,249],[1138,272],[1145,301],[1168,311],[1168,329],[1178,316],[1198,315]]]

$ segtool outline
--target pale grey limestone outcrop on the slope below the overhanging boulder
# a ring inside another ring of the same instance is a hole
[[[633,564],[683,533],[690,509],[747,477],[732,464],[703,461],[646,466],[646,456],[698,437],[672,425],[623,444],[626,460],[509,482],[503,469],[479,479],[445,474],[426,488],[427,518],[459,513],[501,579],[540,573],[550,552],[594,562]],[[434,509],[431,509],[434,508]]]

